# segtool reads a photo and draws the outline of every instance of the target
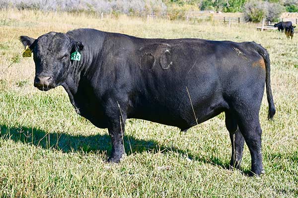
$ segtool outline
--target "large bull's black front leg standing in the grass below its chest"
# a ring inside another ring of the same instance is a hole
[[[119,116],[118,121],[115,120],[108,128],[112,140],[112,154],[108,162],[118,163],[126,156],[123,145],[124,127],[125,120]]]

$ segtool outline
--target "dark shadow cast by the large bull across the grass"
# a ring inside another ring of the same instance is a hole
[[[27,127],[7,127],[0,125],[0,137],[2,139],[11,139],[15,142],[23,142],[40,146],[44,149],[56,149],[62,152],[107,152],[111,154],[112,144],[108,134],[97,134],[90,136],[69,135],[65,133],[48,133],[36,128]],[[176,152],[195,161],[218,165],[224,169],[229,168],[229,163],[222,162],[221,159],[212,156],[211,158],[198,157],[191,154],[190,150],[180,150],[175,147],[160,145],[154,140],[136,139],[134,136],[125,135],[124,146],[128,155],[131,153],[141,153],[150,151],[153,153]]]

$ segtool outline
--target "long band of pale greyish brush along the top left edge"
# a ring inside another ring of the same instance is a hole
[[[122,14],[166,13],[162,0],[0,0],[0,8]],[[117,15],[116,14],[116,15]]]

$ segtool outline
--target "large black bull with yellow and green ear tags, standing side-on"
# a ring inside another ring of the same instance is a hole
[[[76,112],[112,139],[109,161],[125,151],[125,120],[144,119],[185,131],[225,112],[230,165],[239,168],[244,140],[251,171],[263,172],[259,110],[266,84],[275,114],[267,51],[254,42],[144,39],[94,29],[20,37],[33,51],[34,86],[62,85]],[[70,55],[78,51],[80,61]],[[266,82],[266,83],[265,83]]]

